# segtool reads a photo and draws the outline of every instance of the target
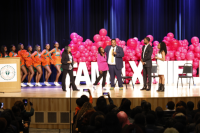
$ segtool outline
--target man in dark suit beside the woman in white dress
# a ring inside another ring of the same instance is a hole
[[[152,68],[152,60],[151,55],[153,53],[153,48],[149,44],[150,38],[144,38],[144,46],[142,47],[142,58],[141,62],[143,64],[143,81],[144,87],[141,90],[151,90],[151,68]],[[147,88],[147,75],[148,75],[148,88]]]

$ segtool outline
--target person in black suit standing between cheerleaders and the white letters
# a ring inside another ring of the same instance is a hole
[[[63,69],[63,76],[62,76],[62,90],[66,91],[65,79],[67,73],[70,76],[70,87],[72,86],[73,91],[79,91],[74,83],[74,76],[73,76],[73,57],[71,54],[71,48],[69,46],[65,46],[65,50],[62,53],[62,69]]]

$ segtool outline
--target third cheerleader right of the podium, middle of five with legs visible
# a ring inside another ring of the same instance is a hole
[[[40,50],[41,50],[40,46],[36,45],[35,46],[35,52],[31,55],[31,57],[32,57],[32,59],[34,61],[33,65],[34,65],[35,69],[37,70],[36,78],[35,78],[35,80],[36,80],[35,86],[42,86],[39,83],[40,78],[41,78],[42,73],[43,73],[42,72],[42,67],[41,67],[42,60],[41,60],[41,52],[40,52]]]

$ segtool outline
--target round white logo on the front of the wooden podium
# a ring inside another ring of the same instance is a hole
[[[2,67],[0,70],[0,76],[4,80],[12,80],[15,77],[15,74],[16,74],[15,69],[10,65]]]

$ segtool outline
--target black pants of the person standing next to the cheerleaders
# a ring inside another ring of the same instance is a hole
[[[67,70],[67,69],[63,69],[62,89],[66,90],[65,79],[66,79],[67,73],[69,73],[69,77],[70,77],[70,87],[72,86],[73,90],[76,90],[77,87],[76,87],[76,85],[74,83],[73,70]]]

